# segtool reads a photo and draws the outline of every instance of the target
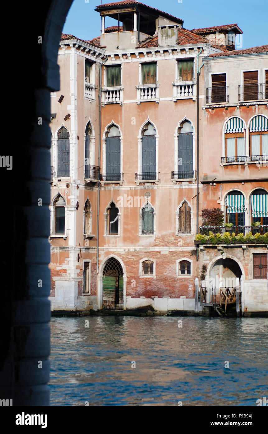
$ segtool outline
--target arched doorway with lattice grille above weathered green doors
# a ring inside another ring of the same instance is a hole
[[[107,260],[103,268],[103,309],[123,309],[123,274],[116,258]]]

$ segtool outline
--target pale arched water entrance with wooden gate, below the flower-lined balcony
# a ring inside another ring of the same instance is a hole
[[[236,306],[237,289],[240,289],[239,305],[241,306],[241,277],[242,270],[234,259],[216,260],[209,272],[210,302],[225,305],[225,310],[228,310]]]

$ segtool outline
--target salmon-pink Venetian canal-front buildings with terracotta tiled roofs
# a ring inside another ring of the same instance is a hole
[[[99,37],[62,35],[51,96],[52,310],[267,312],[268,46],[96,10]]]

